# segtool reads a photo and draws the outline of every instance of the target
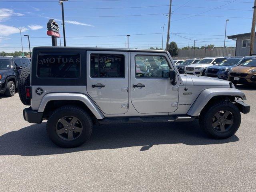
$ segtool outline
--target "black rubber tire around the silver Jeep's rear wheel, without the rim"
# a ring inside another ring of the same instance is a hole
[[[82,133],[78,138],[68,141],[58,136],[56,132],[56,125],[58,121],[64,116],[74,116],[80,120],[83,129],[82,129]],[[86,142],[90,138],[90,135],[92,134],[92,118],[82,108],[79,108],[77,106],[72,106],[72,105],[63,106],[56,109],[54,112],[52,112],[52,114],[50,115],[50,118],[47,121],[46,130],[50,140],[54,144],[63,148],[77,147],[82,145],[84,142]]]

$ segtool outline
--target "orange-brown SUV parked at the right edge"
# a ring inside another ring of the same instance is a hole
[[[236,66],[228,72],[228,80],[233,84],[256,85],[256,58],[247,60],[240,66]]]

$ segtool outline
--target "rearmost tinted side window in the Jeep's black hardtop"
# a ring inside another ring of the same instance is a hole
[[[78,78],[80,54],[40,53],[37,60],[37,75],[41,78]]]

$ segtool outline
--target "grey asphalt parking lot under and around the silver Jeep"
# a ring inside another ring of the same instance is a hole
[[[52,144],[23,119],[18,93],[0,96],[0,191],[256,191],[256,88],[238,132],[207,138],[198,121],[95,126],[78,148]]]

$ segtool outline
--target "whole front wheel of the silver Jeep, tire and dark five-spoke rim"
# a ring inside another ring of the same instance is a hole
[[[239,109],[229,101],[216,102],[200,113],[200,127],[215,139],[225,139],[236,133],[241,123]]]

